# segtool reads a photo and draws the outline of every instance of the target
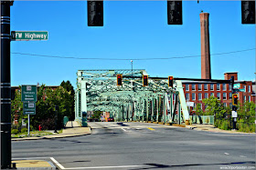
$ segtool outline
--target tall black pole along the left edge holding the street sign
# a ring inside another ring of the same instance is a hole
[[[11,69],[10,69],[10,6],[1,1],[1,169],[10,169],[11,152]]]

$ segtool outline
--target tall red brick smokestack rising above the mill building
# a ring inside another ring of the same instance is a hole
[[[201,78],[211,79],[208,35],[208,13],[200,14],[201,27]]]

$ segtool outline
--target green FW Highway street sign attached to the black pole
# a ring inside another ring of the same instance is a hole
[[[48,40],[48,31],[12,31],[13,41]]]

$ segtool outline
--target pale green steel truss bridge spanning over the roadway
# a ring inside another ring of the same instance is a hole
[[[123,75],[118,86],[116,75]],[[168,87],[167,78],[148,77],[143,86],[144,69],[79,70],[75,90],[75,117],[85,122],[87,111],[111,113],[115,121],[188,121],[186,99],[180,80]],[[182,111],[182,115],[181,115]],[[177,115],[176,115],[177,112]]]

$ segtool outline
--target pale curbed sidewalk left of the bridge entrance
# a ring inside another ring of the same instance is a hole
[[[37,139],[51,139],[51,138],[64,138],[79,135],[90,135],[91,127],[80,127],[77,122],[69,121],[66,128],[63,129],[61,134],[54,135],[43,135],[40,137],[23,137],[23,138],[12,138],[12,141],[24,141],[24,140],[37,140]]]

